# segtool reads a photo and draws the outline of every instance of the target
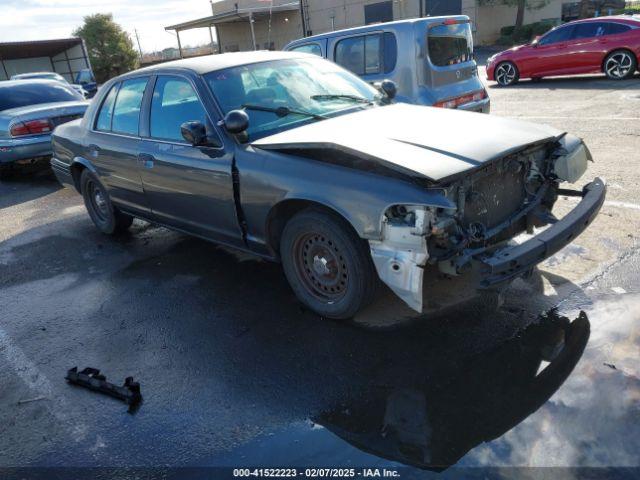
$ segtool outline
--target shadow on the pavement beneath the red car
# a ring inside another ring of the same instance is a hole
[[[530,79],[520,80],[515,85],[501,87],[495,82],[488,84],[491,89],[509,88],[514,90],[619,90],[640,89],[640,74],[636,73],[627,80],[610,80],[605,75],[575,75],[567,77],[545,77],[534,81]]]

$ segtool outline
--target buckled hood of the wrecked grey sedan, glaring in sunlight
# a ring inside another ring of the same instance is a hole
[[[307,124],[252,145],[291,153],[321,151],[315,158],[343,152],[438,181],[561,134],[544,125],[493,115],[396,104]],[[354,162],[353,167],[367,168],[366,163]]]

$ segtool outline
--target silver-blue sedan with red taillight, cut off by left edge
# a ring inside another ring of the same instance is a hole
[[[86,100],[57,80],[0,82],[0,174],[15,164],[48,162],[51,132],[86,109]]]

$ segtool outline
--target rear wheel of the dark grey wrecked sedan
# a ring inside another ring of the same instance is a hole
[[[90,170],[83,170],[80,176],[80,191],[84,205],[94,225],[102,233],[113,235],[129,228],[133,217],[118,211],[98,177]]]

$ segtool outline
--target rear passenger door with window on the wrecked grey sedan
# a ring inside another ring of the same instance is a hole
[[[136,77],[111,88],[87,135],[85,152],[112,201],[142,212],[149,208],[138,168],[139,125],[148,82],[149,77]]]

